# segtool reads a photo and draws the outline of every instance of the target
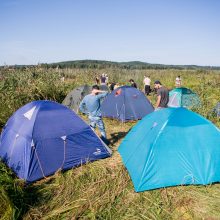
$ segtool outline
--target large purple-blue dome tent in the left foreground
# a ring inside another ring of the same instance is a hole
[[[21,107],[8,120],[0,139],[0,157],[27,182],[110,155],[89,125],[51,101]]]

